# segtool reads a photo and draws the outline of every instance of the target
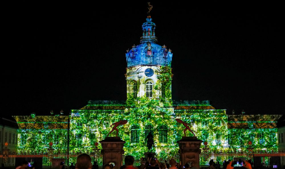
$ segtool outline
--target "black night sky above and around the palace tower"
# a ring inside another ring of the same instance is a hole
[[[147,3],[77,3],[5,7],[2,115],[67,115],[87,100],[126,100],[125,53],[140,43]],[[173,53],[173,100],[284,114],[281,5],[152,4],[158,44]]]

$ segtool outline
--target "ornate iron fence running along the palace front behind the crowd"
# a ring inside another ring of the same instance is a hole
[[[34,165],[37,169],[58,168],[60,162],[64,162],[66,166],[71,163],[76,164],[77,157],[86,153],[91,157],[92,163],[97,161],[99,168],[103,166],[103,155],[99,149],[94,149],[91,152],[29,152],[29,153],[9,153],[0,154],[0,168],[12,168],[21,165],[23,161],[28,161],[30,165]],[[124,159],[124,156],[123,156]],[[158,159],[160,162],[170,159],[176,160],[180,163],[180,156],[175,155],[167,159]],[[206,168],[209,166],[209,161],[213,159],[214,162],[223,166],[223,162],[230,160],[252,160],[253,168],[281,168],[285,169],[285,152],[266,151],[266,150],[247,150],[247,151],[211,151],[209,149],[202,149],[200,154],[200,167]],[[3,165],[4,164],[4,165]],[[141,165],[141,160],[136,159],[134,166]],[[181,164],[182,166],[184,164]]]

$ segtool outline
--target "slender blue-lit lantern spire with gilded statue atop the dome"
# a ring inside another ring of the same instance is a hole
[[[152,18],[150,17],[150,10],[152,10],[152,5],[148,2],[148,16],[146,18],[146,22],[143,23],[143,36],[141,37],[141,43],[143,42],[154,42],[157,43],[157,37],[155,36],[155,24],[152,22]]]

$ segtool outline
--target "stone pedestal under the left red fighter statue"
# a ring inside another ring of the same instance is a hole
[[[120,137],[106,137],[104,140],[99,141],[102,145],[103,166],[105,164],[114,163],[113,169],[119,169],[122,166],[124,143]]]

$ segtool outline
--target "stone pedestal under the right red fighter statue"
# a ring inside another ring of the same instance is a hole
[[[197,137],[182,137],[181,140],[177,141],[180,148],[179,153],[182,166],[190,163],[192,167],[200,168],[199,155],[201,153],[200,146],[202,142]]]

